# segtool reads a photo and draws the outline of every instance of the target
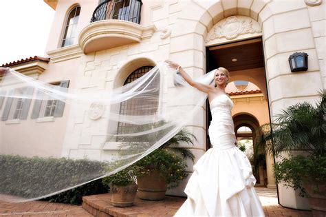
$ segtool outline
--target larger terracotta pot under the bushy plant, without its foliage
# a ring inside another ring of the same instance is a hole
[[[151,170],[146,176],[137,177],[138,197],[142,200],[164,200],[166,192],[165,178]]]

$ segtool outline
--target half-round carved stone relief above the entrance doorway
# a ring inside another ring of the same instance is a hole
[[[206,43],[214,39],[235,39],[241,34],[261,33],[259,24],[250,17],[231,16],[219,23],[208,33]]]

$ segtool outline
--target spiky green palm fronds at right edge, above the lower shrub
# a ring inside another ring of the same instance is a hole
[[[305,151],[312,156],[326,154],[326,92],[320,92],[316,107],[298,103],[282,110],[275,123],[261,126],[256,148],[265,147],[273,156],[293,150]]]

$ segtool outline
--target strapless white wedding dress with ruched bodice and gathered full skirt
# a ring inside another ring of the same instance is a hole
[[[264,216],[250,162],[235,146],[232,107],[226,94],[211,101],[208,134],[213,148],[194,165],[184,189],[188,198],[175,216]]]

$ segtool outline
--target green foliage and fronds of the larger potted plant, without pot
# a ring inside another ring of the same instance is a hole
[[[166,123],[160,121],[151,125],[133,125],[131,126],[131,132],[144,132],[146,130],[160,129],[161,126]],[[173,126],[171,126],[173,127]],[[169,128],[169,129],[168,129]],[[120,154],[124,152],[139,153],[140,151],[146,151],[155,143],[157,139],[166,135],[166,132],[170,131],[170,127],[162,130],[153,130],[149,134],[141,134],[140,136],[133,136],[133,138],[124,137],[121,138],[122,145],[120,146]],[[195,156],[186,147],[178,147],[180,144],[191,144],[196,138],[193,134],[187,130],[180,130],[169,141],[166,141],[159,148],[155,149],[151,154],[145,156],[140,161],[137,161],[133,165],[136,176],[144,176],[149,174],[151,170],[157,170],[160,172],[160,176],[166,179],[166,183],[169,184],[169,188],[176,187],[180,180],[183,180],[188,176],[186,173],[186,159],[194,161]]]

